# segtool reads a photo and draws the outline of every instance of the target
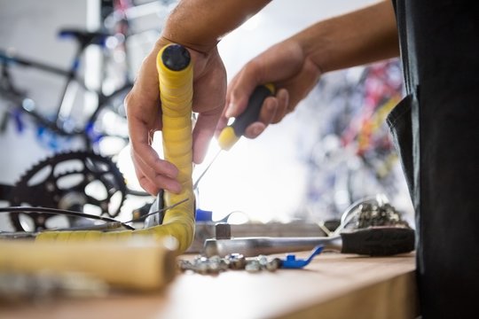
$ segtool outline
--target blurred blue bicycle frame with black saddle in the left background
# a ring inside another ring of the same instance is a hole
[[[126,133],[126,130],[125,134],[122,135],[106,132],[106,128],[102,128],[101,123],[98,120],[101,113],[106,109],[119,115],[119,119],[125,120],[122,103],[124,97],[130,91],[132,83],[125,82],[120,88],[114,89],[112,93],[105,94],[102,89],[90,89],[87,87],[79,74],[80,61],[86,48],[90,45],[105,47],[106,40],[110,35],[104,32],[62,29],[59,31],[59,36],[71,37],[78,44],[72,63],[67,69],[58,66],[51,66],[50,64],[41,61],[22,58],[0,49],[0,95],[7,102],[10,102],[11,106],[13,106],[13,111],[11,113],[17,122],[19,130],[21,130],[22,126],[19,114],[27,113],[39,125],[39,134],[44,134],[44,130],[46,129],[58,136],[80,137],[85,145],[85,149],[89,151],[94,150],[96,144],[98,144],[103,136],[120,137],[122,140],[127,141],[128,134]],[[12,73],[10,71],[12,66],[33,67],[46,73],[56,74],[66,78],[64,87],[59,94],[59,105],[57,105],[55,113],[53,113],[51,117],[47,117],[42,113],[37,112],[35,110],[35,102],[28,98],[25,91],[20,89],[17,84],[13,82]],[[97,97],[97,105],[95,105],[93,113],[87,117],[82,127],[75,127],[75,124],[72,125],[71,119],[64,114],[65,112],[62,112],[70,107],[70,105],[66,105],[66,103],[70,98],[68,96],[68,90],[73,85],[80,85],[86,92],[90,92]],[[126,120],[124,122],[126,127]]]

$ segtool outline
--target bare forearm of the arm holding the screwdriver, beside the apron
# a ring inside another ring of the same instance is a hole
[[[322,73],[399,54],[390,1],[319,22],[294,37]]]

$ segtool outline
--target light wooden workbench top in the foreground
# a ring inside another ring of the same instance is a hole
[[[3,305],[0,318],[415,318],[414,268],[413,253],[322,253],[301,270],[178,274],[164,292]]]

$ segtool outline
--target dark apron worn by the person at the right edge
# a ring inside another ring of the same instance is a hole
[[[479,11],[393,0],[407,96],[389,114],[416,213],[423,318],[479,318]]]

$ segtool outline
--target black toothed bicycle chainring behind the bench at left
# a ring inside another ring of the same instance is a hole
[[[10,204],[115,217],[126,193],[123,175],[111,159],[92,152],[65,152],[43,159],[27,170],[13,186]],[[82,226],[87,221],[45,213],[10,213],[10,219],[19,231]]]

